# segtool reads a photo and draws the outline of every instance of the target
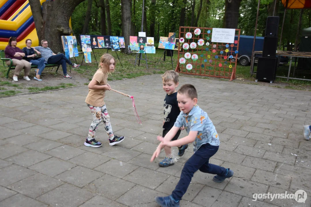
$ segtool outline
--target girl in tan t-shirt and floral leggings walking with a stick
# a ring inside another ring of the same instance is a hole
[[[102,144],[95,140],[95,133],[103,120],[105,130],[109,137],[109,145],[113,146],[124,140],[124,137],[118,137],[114,135],[110,124],[110,116],[104,102],[105,91],[110,90],[111,87],[107,83],[108,74],[114,72],[115,59],[110,54],[104,54],[100,58],[100,67],[93,76],[93,79],[89,83],[89,94],[87,95],[85,102],[91,109],[93,116],[93,122],[90,126],[89,135],[84,142],[85,146],[100,147]]]

